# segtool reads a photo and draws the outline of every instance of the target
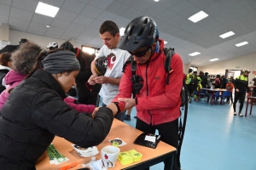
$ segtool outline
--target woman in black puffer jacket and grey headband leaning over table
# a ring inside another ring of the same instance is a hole
[[[34,170],[55,135],[83,148],[100,144],[118,111],[111,103],[90,115],[73,110],[63,101],[79,74],[79,61],[73,52],[51,53],[42,64],[44,71],[39,69],[27,77],[3,105],[0,169]]]

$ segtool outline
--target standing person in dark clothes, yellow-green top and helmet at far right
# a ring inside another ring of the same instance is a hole
[[[248,88],[248,76],[251,71],[244,69],[241,71],[241,76],[236,77],[235,79],[235,100],[233,103],[233,109],[234,109],[234,115],[236,116],[236,102],[239,100],[240,106],[239,106],[239,116],[243,116],[241,114],[241,110],[243,107],[244,99],[246,97],[247,92],[250,91],[250,88]]]

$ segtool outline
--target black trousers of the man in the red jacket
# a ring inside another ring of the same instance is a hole
[[[166,144],[170,144],[173,147],[178,147],[178,119],[172,122],[166,122],[159,125],[148,125],[146,122],[143,122],[139,118],[137,118],[136,128],[143,131],[144,133],[155,133],[157,129],[160,136],[161,141],[165,142]],[[166,162],[172,161],[171,159],[166,159]],[[172,169],[165,169],[165,170],[179,170],[180,168],[177,166],[177,156],[174,156]],[[144,169],[149,170],[149,167]]]

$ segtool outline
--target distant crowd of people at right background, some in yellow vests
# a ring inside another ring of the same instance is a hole
[[[214,81],[211,81],[211,77],[208,75],[208,72],[203,73],[200,71],[200,74],[197,76],[197,71],[193,71],[190,68],[188,74],[186,75],[186,84],[189,89],[189,103],[192,103],[192,98],[196,100],[197,94],[201,91],[201,88],[224,88],[227,91],[230,91],[230,95],[227,96],[227,103],[233,105],[234,116],[236,113],[236,103],[239,101],[239,111],[238,115],[241,114],[243,103],[246,98],[246,94],[252,92],[252,89],[248,87],[248,75],[251,71],[244,69],[241,71],[241,75],[234,78],[234,75],[231,74],[230,77],[225,78],[224,75],[220,76],[217,74]],[[253,78],[253,96],[256,97],[256,76]],[[235,99],[233,99],[233,92]],[[212,94],[207,95],[207,102]],[[218,98],[217,98],[218,99]]]

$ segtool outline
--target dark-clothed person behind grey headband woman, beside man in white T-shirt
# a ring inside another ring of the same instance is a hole
[[[70,42],[63,42],[60,48],[65,48],[76,54],[76,58],[79,60],[80,71],[76,77],[77,88],[79,90],[79,103],[85,105],[96,105],[97,96],[102,88],[101,84],[95,86],[90,85],[87,81],[92,75],[90,71],[90,64],[94,59],[93,55],[84,53],[79,48],[73,48],[73,44]]]

